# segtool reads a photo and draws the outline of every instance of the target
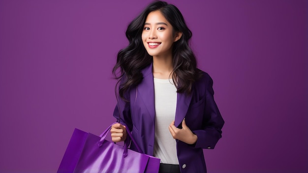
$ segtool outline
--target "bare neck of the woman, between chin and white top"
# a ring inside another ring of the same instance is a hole
[[[155,78],[169,79],[172,77],[172,56],[153,57],[153,75]]]

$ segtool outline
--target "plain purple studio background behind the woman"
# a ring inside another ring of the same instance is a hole
[[[0,0],[0,173],[55,173],[74,128],[115,119],[111,70],[149,0]],[[308,172],[307,0],[169,0],[214,79],[209,173]]]

